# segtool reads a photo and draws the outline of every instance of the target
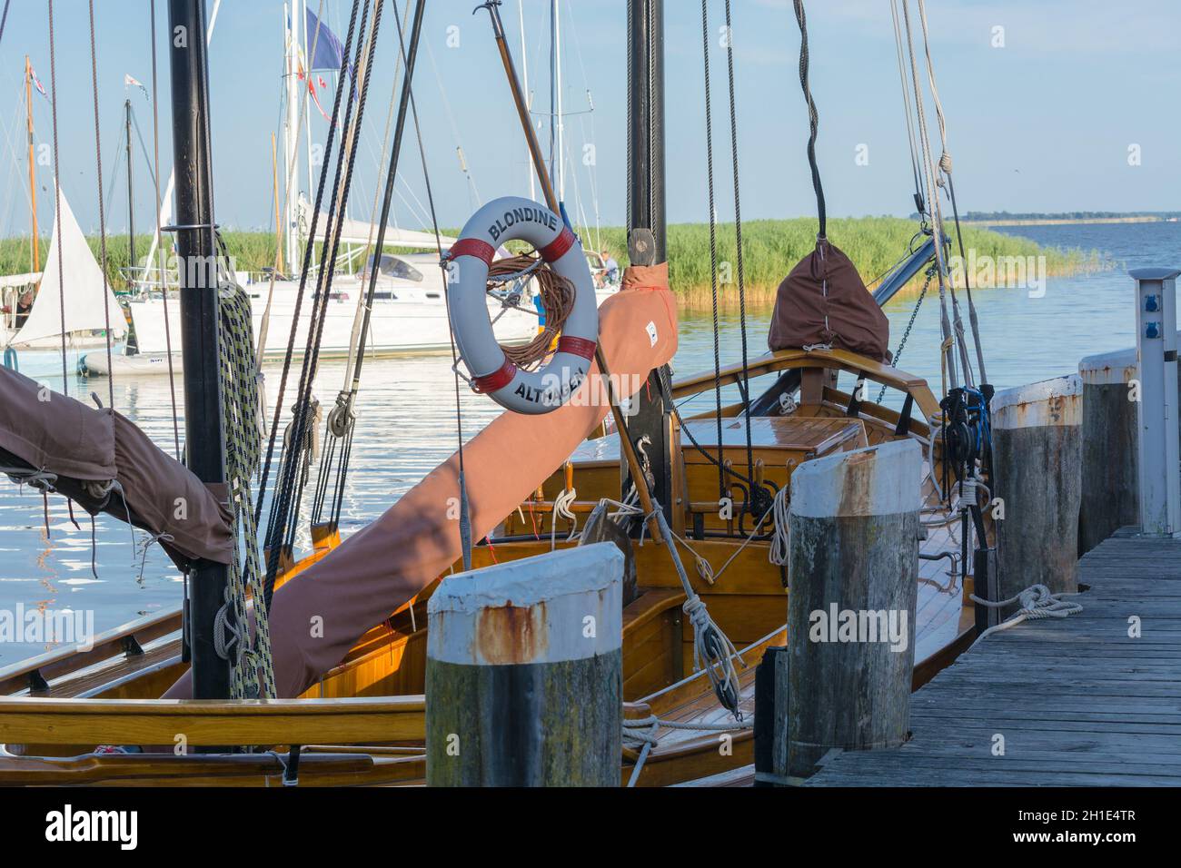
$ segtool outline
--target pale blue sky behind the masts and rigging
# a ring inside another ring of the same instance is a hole
[[[314,11],[320,0],[307,0]],[[213,0],[207,0],[213,8]],[[548,110],[548,0],[523,0],[527,59],[535,107]],[[350,2],[324,0],[325,21],[344,38]],[[517,0],[503,15],[521,67]],[[124,87],[124,73],[150,85],[149,0],[96,0],[99,128],[104,184],[120,146],[120,116],[130,96],[150,146],[151,109]],[[475,0],[433,0],[416,79],[428,163],[441,221],[461,224],[475,191],[461,174],[462,145],[481,200],[527,194],[524,145],[500,67],[488,17]],[[159,19],[162,139],[171,163],[167,4]],[[405,0],[399,0],[405,8]],[[573,155],[567,198],[589,220],[594,200],[603,224],[624,220],[626,137],[626,0],[565,0],[567,148]],[[914,2],[912,0],[912,8]],[[386,6],[390,11],[390,6]],[[912,209],[901,92],[887,0],[808,4],[813,91],[820,109],[818,152],[831,215],[906,214]],[[732,214],[725,56],[718,46],[722,0],[710,0],[718,213]],[[63,189],[84,229],[97,229],[98,191],[87,5],[56,0],[58,120]],[[272,220],[270,133],[280,119],[281,0],[223,0],[211,48],[215,195],[226,227]],[[707,216],[700,8],[666,1],[668,214]],[[1181,208],[1181,5],[1130,0],[931,0],[932,52],[947,115],[957,194],[973,210],[1170,210]],[[807,116],[800,93],[800,34],[790,0],[733,0],[738,150],[743,216],[809,215],[815,210],[804,157]],[[994,28],[1004,47],[993,47]],[[457,30],[452,30],[457,28]],[[378,178],[378,151],[393,83],[393,20],[386,15],[357,164],[354,216],[367,215]],[[456,41],[458,45],[450,45]],[[428,51],[429,48],[429,51]],[[46,89],[50,57],[46,4],[12,4],[0,44],[0,233],[27,231],[21,79],[28,53]],[[594,112],[588,109],[590,90]],[[48,103],[34,92],[37,139],[51,138]],[[331,102],[325,100],[331,110]],[[582,112],[582,113],[575,113]],[[929,110],[928,116],[933,112]],[[313,110],[313,131],[327,124]],[[933,146],[938,141],[932,125]],[[544,120],[542,122],[546,123]],[[548,136],[542,130],[543,139]],[[411,139],[412,143],[412,139]],[[594,144],[596,165],[581,164]],[[868,165],[855,161],[868,148]],[[1129,165],[1138,145],[1140,165]],[[136,143],[138,150],[138,142]],[[15,151],[15,154],[14,154]],[[398,222],[420,226],[424,200],[417,148],[403,152]],[[146,228],[152,192],[136,157],[137,222]],[[51,175],[39,174],[43,231],[52,220]],[[126,227],[125,176],[116,184],[109,230]],[[306,180],[302,187],[307,188]],[[592,189],[598,195],[593,195]],[[104,192],[105,195],[105,192]],[[417,201],[416,201],[417,200]]]

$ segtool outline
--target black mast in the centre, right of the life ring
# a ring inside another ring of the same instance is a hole
[[[627,125],[627,253],[633,266],[652,266],[666,259],[665,124],[664,124],[664,0],[627,4],[627,99],[632,115]],[[667,367],[664,368],[667,374]],[[665,378],[667,379],[667,378]],[[652,497],[671,523],[672,457],[671,418],[661,390],[661,372],[632,398],[627,428],[637,449],[652,465]],[[647,438],[647,442],[644,442]],[[627,464],[620,463],[622,490],[631,488]],[[640,533],[637,523],[635,533]]]

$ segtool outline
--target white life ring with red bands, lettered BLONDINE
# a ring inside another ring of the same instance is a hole
[[[522,371],[496,342],[488,318],[488,267],[505,241],[527,241],[556,274],[574,285],[574,307],[549,361]],[[517,196],[476,211],[448,253],[448,309],[471,387],[508,410],[540,416],[556,410],[590,373],[599,341],[599,307],[582,246],[560,216]]]

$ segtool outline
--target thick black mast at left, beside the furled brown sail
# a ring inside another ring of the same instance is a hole
[[[217,267],[209,155],[209,80],[204,0],[169,0],[176,246],[184,364],[185,463],[205,483],[226,482],[217,355]],[[193,697],[229,698],[229,663],[214,646],[228,567],[197,561],[189,574]]]

